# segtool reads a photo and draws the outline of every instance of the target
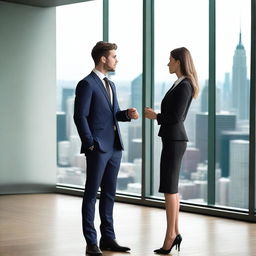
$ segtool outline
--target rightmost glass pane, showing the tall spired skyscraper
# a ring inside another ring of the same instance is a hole
[[[216,204],[245,209],[249,190],[250,8],[249,0],[216,1]]]

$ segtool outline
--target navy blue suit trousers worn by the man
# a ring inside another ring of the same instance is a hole
[[[122,151],[119,148],[117,149],[117,147],[113,147],[113,150],[109,152],[101,152],[96,147],[86,155],[87,176],[82,203],[82,224],[87,244],[97,244],[94,217],[99,187],[101,188],[99,201],[101,236],[115,239],[113,206],[121,157]]]

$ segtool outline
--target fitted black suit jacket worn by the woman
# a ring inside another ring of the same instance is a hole
[[[157,114],[160,126],[158,136],[171,140],[188,141],[184,121],[192,101],[193,88],[185,78],[171,88],[161,102],[161,113]]]

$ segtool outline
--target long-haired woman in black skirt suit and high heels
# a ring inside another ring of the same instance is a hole
[[[161,113],[157,114],[151,108],[144,110],[146,118],[157,120],[160,125],[158,135],[162,138],[159,192],[165,197],[167,229],[163,246],[154,251],[157,254],[170,253],[174,246],[180,250],[178,182],[188,141],[184,121],[192,98],[199,92],[197,73],[188,49],[172,50],[168,67],[178,79],[164,96]]]

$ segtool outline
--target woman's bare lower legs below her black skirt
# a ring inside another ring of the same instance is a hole
[[[167,229],[164,240],[163,249],[170,249],[174,239],[176,238],[176,229],[177,229],[177,194],[168,194],[165,193],[165,209],[166,209],[166,220],[167,220]]]

